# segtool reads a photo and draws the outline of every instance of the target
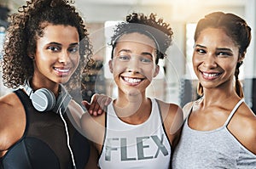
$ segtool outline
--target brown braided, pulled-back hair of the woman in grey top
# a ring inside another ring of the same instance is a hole
[[[194,40],[196,41],[199,37],[201,31],[204,29],[212,27],[218,28],[225,31],[225,33],[236,43],[239,47],[239,54],[242,57],[247,52],[247,47],[251,42],[251,28],[247,25],[247,22],[236,14],[224,14],[223,12],[214,12],[212,14],[207,14],[205,18],[199,20],[195,29]],[[239,97],[243,98],[243,91],[241,87],[241,82],[238,79],[239,68],[242,65],[242,61],[238,62],[236,65],[235,77],[236,77],[236,93]],[[197,93],[203,95],[203,87],[201,83],[198,84]]]

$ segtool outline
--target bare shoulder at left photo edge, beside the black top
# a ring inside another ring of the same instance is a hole
[[[0,110],[0,150],[4,150],[22,137],[26,127],[26,114],[15,93],[0,98]]]

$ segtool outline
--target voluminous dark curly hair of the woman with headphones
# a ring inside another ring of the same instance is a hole
[[[9,16],[5,42],[3,43],[3,84],[20,87],[33,75],[34,67],[28,54],[35,54],[38,37],[44,36],[45,24],[71,25],[79,32],[79,68],[70,79],[69,87],[76,87],[82,67],[90,63],[92,46],[84,20],[68,0],[27,0],[18,13]]]

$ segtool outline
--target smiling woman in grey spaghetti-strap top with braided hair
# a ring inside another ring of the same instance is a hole
[[[235,14],[215,12],[198,22],[194,39],[201,99],[183,109],[188,116],[172,168],[254,169],[256,116],[244,103],[238,80],[251,28]]]

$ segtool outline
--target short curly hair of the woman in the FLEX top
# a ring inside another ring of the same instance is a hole
[[[141,13],[128,14],[125,22],[116,25],[113,37],[111,37],[111,46],[115,48],[119,37],[132,32],[144,34],[154,40],[157,48],[156,64],[158,64],[159,59],[164,59],[166,49],[172,44],[173,31],[170,24],[167,24],[162,19],[157,20],[156,14],[153,13],[148,16]]]

